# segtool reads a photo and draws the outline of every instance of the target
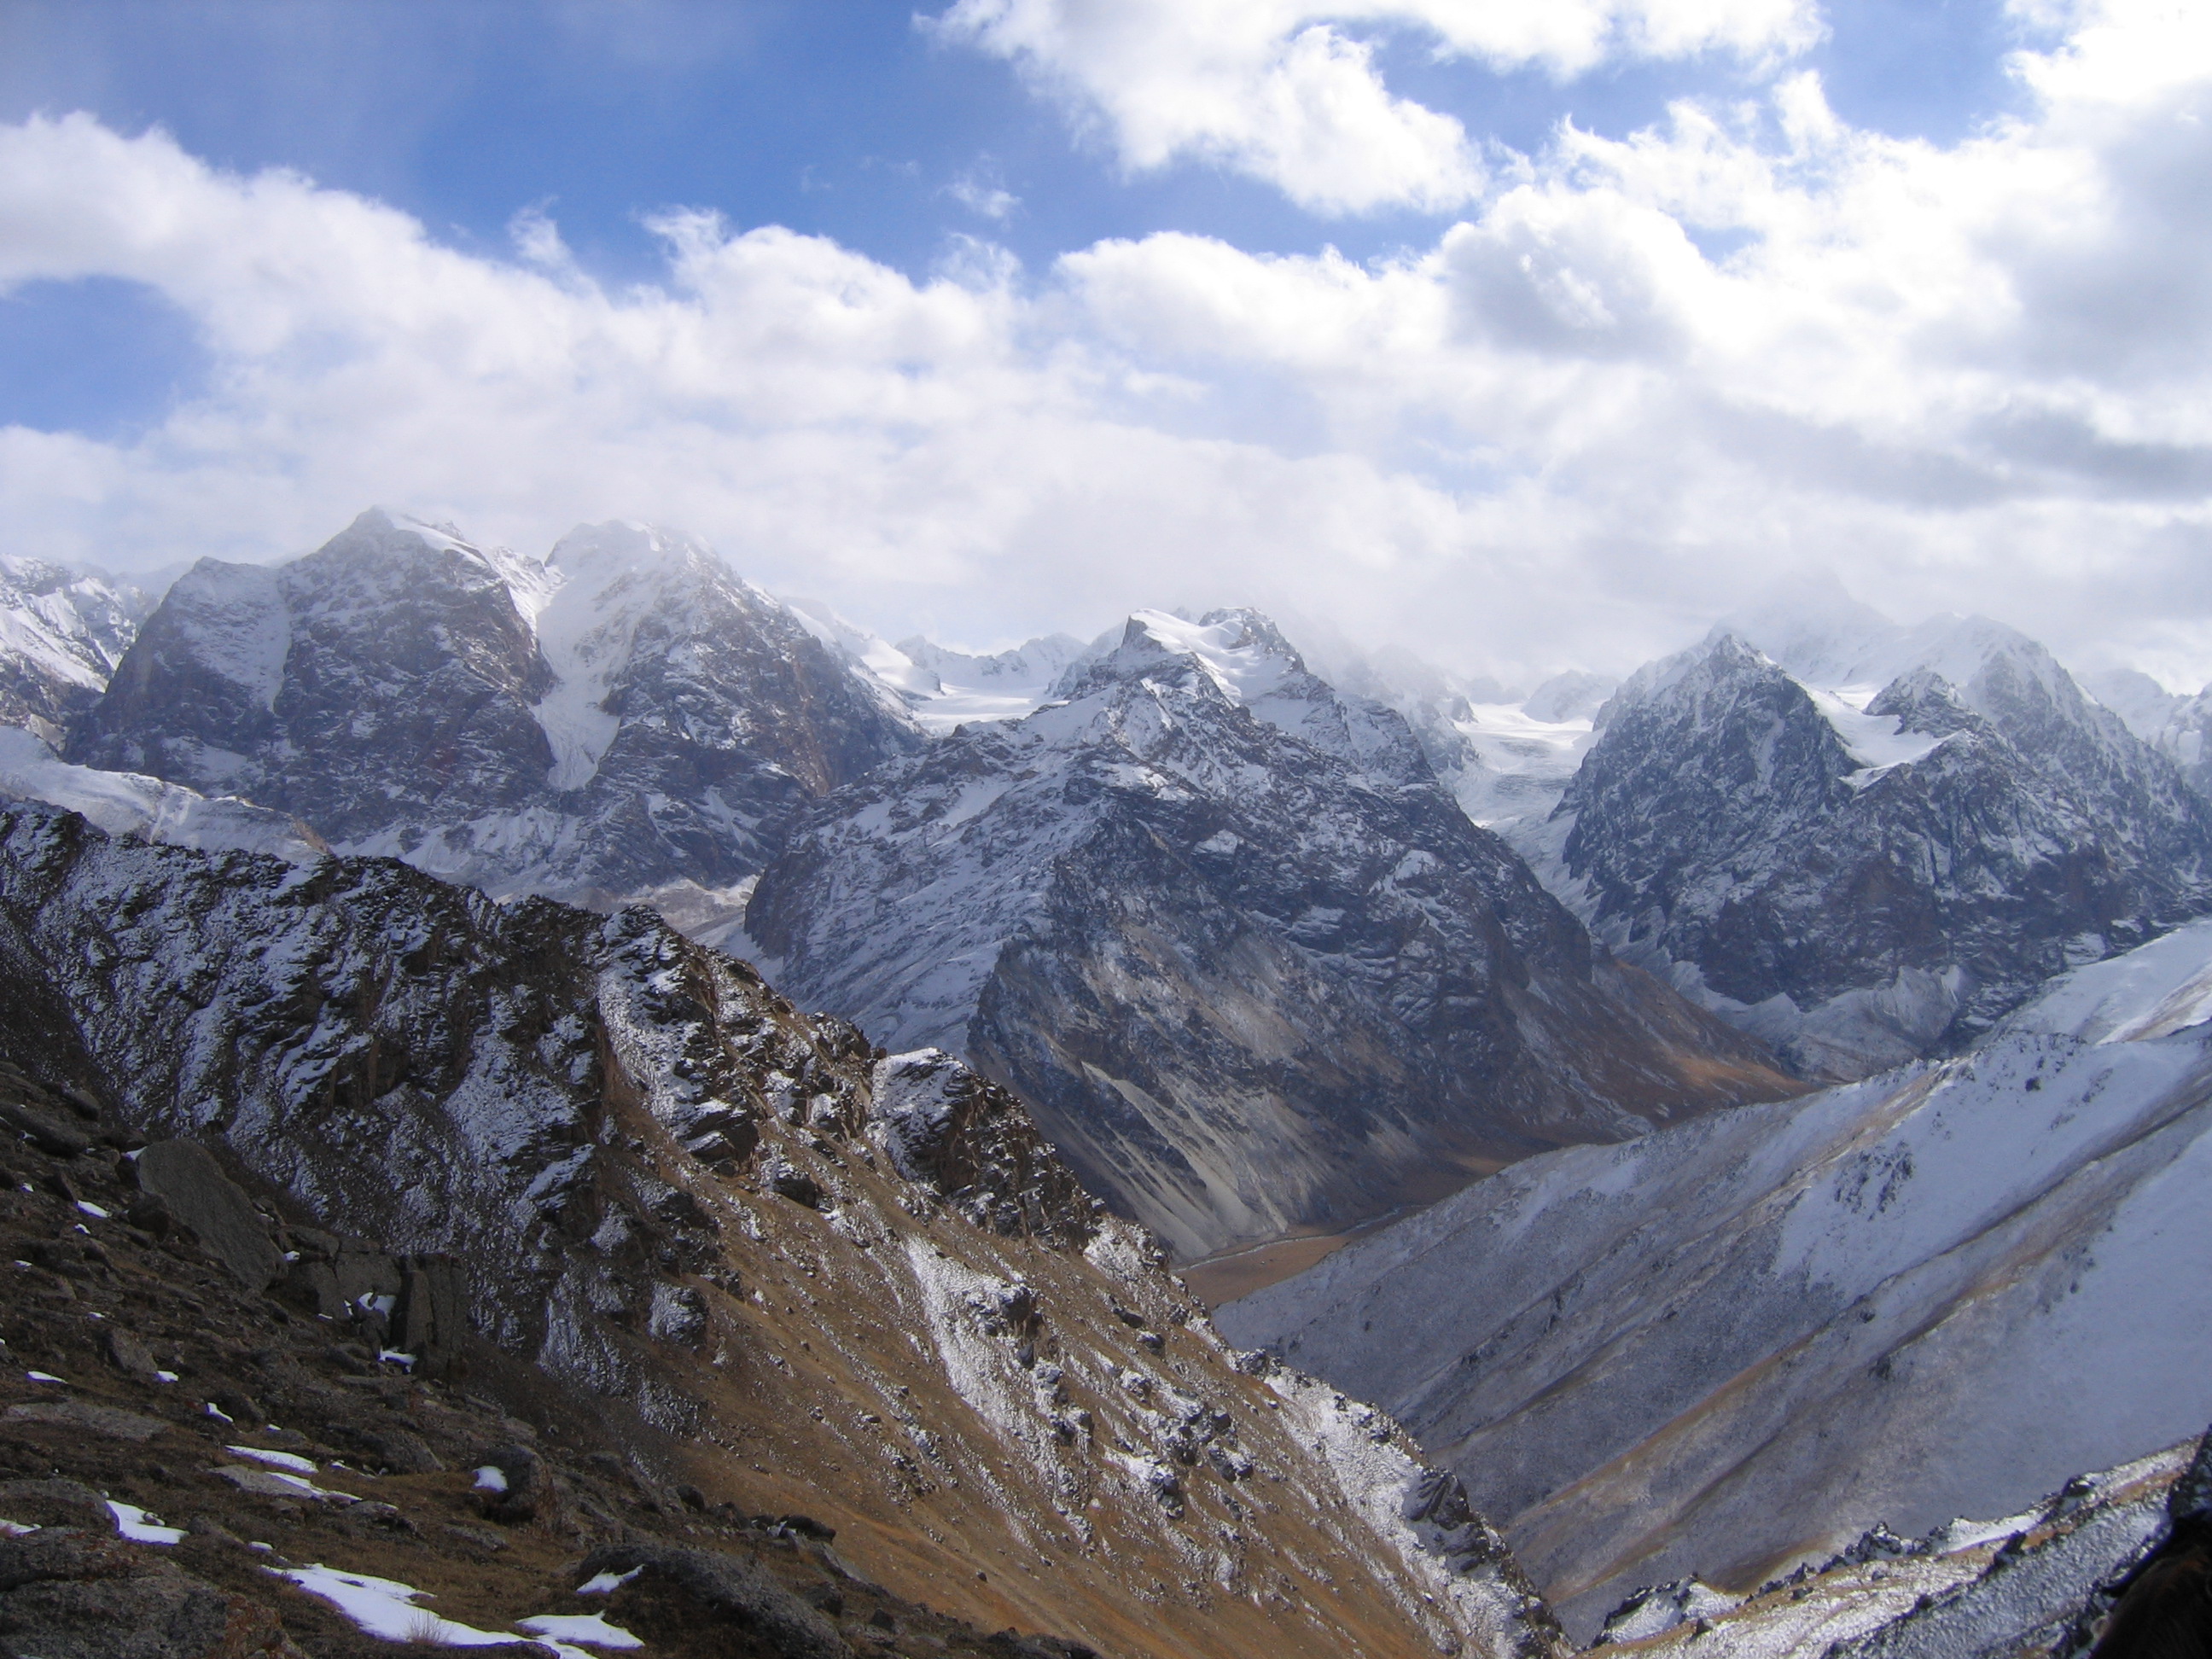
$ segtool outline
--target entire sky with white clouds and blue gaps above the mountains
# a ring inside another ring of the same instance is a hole
[[[0,551],[1522,684],[1834,573],[2194,690],[2208,115],[2174,0],[0,0]]]

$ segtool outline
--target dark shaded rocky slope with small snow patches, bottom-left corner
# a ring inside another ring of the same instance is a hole
[[[872,1584],[814,1517],[710,1504],[586,1391],[436,1329],[456,1263],[285,1223],[88,1099],[0,1071],[31,1126],[0,1155],[0,1650],[1082,1652]],[[290,1259],[274,1292],[257,1256]],[[325,1312],[325,1276],[396,1318]]]

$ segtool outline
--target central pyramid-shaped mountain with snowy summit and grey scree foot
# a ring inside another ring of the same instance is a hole
[[[1787,1086],[1250,611],[1137,613],[1035,714],[830,796],[748,927],[794,995],[1015,1088],[1181,1256]]]

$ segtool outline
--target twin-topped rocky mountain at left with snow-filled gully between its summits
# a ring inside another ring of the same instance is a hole
[[[192,566],[69,757],[597,900],[734,885],[805,801],[920,741],[690,538],[582,526],[540,564],[369,511],[283,566]]]

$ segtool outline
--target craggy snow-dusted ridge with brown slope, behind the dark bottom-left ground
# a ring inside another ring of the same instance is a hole
[[[380,1241],[394,1340],[445,1321],[458,1263],[482,1365],[591,1396],[664,1489],[814,1515],[914,1599],[1117,1655],[1555,1650],[1511,1562],[1405,1517],[1402,1433],[1237,1369],[1011,1095],[644,911],[0,812],[0,998],[38,1121],[69,1082],[237,1159],[294,1234],[341,1234],[301,1256],[356,1310],[376,1267],[343,1234]],[[303,1263],[281,1290],[323,1312]],[[518,1436],[487,1444],[507,1469]]]

